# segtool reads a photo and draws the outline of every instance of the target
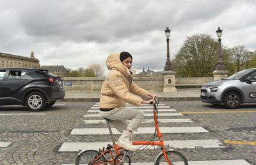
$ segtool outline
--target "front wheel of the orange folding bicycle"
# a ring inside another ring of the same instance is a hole
[[[169,151],[166,151],[166,155],[168,157],[168,160],[170,161],[170,164],[172,165],[188,165],[188,161],[186,157],[180,154],[180,152],[169,150]],[[163,153],[158,155],[155,164],[157,165],[168,164]]]

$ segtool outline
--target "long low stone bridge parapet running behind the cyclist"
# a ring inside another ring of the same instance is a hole
[[[100,92],[105,78],[99,77],[63,77],[64,89],[67,92]],[[176,89],[200,89],[213,77],[175,78]],[[134,83],[149,92],[163,92],[164,77],[134,77]]]

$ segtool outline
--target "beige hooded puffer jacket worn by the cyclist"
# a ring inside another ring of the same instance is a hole
[[[120,61],[120,54],[109,55],[106,65],[110,71],[102,85],[99,108],[124,107],[125,103],[140,106],[141,97],[147,97],[149,92],[132,82],[136,71],[131,70],[130,73]]]

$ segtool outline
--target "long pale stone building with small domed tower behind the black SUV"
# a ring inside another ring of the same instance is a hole
[[[40,68],[40,61],[35,58],[34,52],[30,57],[0,53],[0,62],[0,68]]]

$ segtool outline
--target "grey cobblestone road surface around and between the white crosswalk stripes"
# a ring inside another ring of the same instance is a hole
[[[22,106],[0,106],[0,164],[74,164],[77,152],[60,151],[64,143],[110,141],[108,135],[74,135],[74,128],[99,128],[106,124],[88,124],[98,117],[84,117],[96,102],[57,102],[44,111],[31,112]],[[220,147],[178,148],[188,161],[243,160],[256,163],[256,104],[237,110],[205,104],[201,101],[162,102],[193,122],[163,123],[163,127],[202,127],[207,133],[166,133],[164,140],[218,140]],[[161,111],[161,109],[159,109]],[[95,114],[96,112],[90,112]],[[147,119],[149,117],[145,117]],[[141,127],[152,127],[145,123]],[[150,134],[136,134],[134,140]],[[118,138],[119,135],[115,135]],[[207,143],[207,142],[205,142]],[[132,157],[132,162],[154,162],[154,150]]]

